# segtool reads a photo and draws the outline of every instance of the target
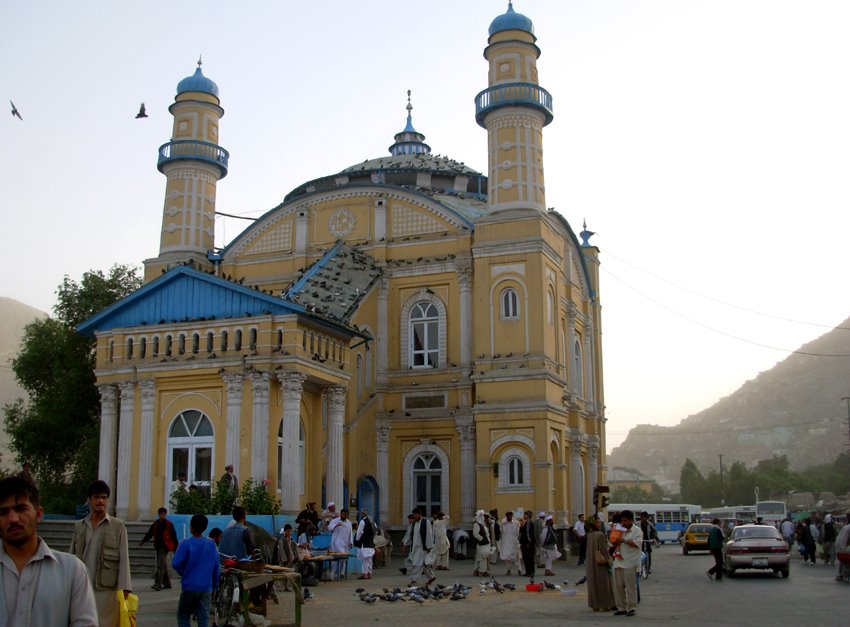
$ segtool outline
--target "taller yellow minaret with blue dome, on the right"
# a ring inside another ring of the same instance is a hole
[[[487,129],[489,210],[546,211],[543,127],[552,121],[552,96],[537,83],[534,26],[509,2],[489,35],[489,87],[475,97],[475,120]]]

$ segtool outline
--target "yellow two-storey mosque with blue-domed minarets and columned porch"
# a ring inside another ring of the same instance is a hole
[[[99,475],[118,516],[154,516],[181,472],[208,491],[229,464],[282,513],[591,511],[599,250],[547,208],[553,108],[531,20],[509,4],[484,56],[486,175],[433,154],[408,98],[389,154],[299,185],[218,249],[224,109],[200,65],[178,83],[159,254],[79,327],[97,339]]]

